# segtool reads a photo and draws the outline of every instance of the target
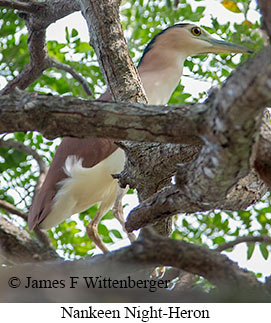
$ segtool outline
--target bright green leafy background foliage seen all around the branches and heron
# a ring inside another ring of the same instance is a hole
[[[201,0],[181,0],[174,6],[173,0],[131,0],[123,1],[121,18],[125,36],[130,48],[130,54],[138,62],[140,53],[148,41],[164,27],[179,21],[199,22],[206,11],[206,2]],[[221,9],[230,11],[232,15],[242,15],[240,24],[227,22],[222,24],[219,17],[211,18],[210,33],[216,33],[223,39],[242,43],[255,52],[263,46],[259,33],[259,21],[249,21],[248,16],[254,1],[220,1]],[[223,7],[224,6],[224,7]],[[12,10],[0,11],[0,82],[13,79],[28,62],[27,34],[23,20]],[[49,55],[55,60],[72,66],[88,81],[95,97],[102,93],[104,81],[98,67],[93,49],[88,43],[82,42],[76,29],[67,27],[66,40],[63,43],[48,41]],[[191,77],[210,82],[212,85],[221,84],[238,64],[247,57],[243,55],[202,55],[189,58],[185,62],[184,73]],[[200,62],[203,62],[200,64]],[[41,78],[33,83],[28,91],[53,93],[59,95],[74,95],[86,98],[86,94],[78,81],[69,74],[56,69],[48,69]],[[185,93],[183,84],[175,90],[170,103],[182,104],[206,97],[200,93],[198,97]],[[3,135],[20,141],[36,149],[49,164],[59,141],[48,141],[38,133],[15,133]],[[32,157],[17,150],[0,147],[1,187],[0,198],[14,203],[26,213],[31,204],[38,169]],[[61,223],[49,231],[53,244],[67,258],[91,255],[95,246],[85,234],[85,225],[95,216],[97,206],[91,207],[79,216]],[[221,212],[214,210],[206,213],[182,215],[175,219],[173,238],[203,244],[214,248],[231,241],[240,235],[268,234],[271,226],[270,198],[266,198],[249,210],[238,212]],[[112,211],[99,224],[99,234],[105,243],[122,239],[123,233],[110,229]],[[263,257],[266,259],[270,248],[260,245]],[[248,245],[247,257],[253,256],[254,244]]]

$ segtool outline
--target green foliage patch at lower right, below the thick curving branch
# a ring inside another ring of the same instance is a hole
[[[258,205],[262,204],[262,207]],[[226,212],[213,210],[196,214],[184,214],[175,218],[176,229],[173,238],[185,240],[215,249],[219,245],[240,236],[268,235],[271,229],[270,196],[248,210]],[[264,259],[268,258],[270,247],[260,244]],[[255,250],[255,243],[247,244],[247,259]],[[228,249],[231,252],[232,249]]]

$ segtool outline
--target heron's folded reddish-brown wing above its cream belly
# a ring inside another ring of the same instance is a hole
[[[109,101],[111,96],[107,91],[99,99]],[[50,213],[53,199],[59,189],[57,184],[67,177],[63,167],[68,156],[75,155],[78,159],[82,159],[83,167],[91,168],[110,156],[117,148],[112,139],[65,137],[30,208],[29,229],[41,223]]]

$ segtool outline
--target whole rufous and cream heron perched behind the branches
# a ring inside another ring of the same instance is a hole
[[[178,85],[188,56],[206,53],[252,53],[247,48],[213,38],[190,23],[178,23],[158,33],[138,65],[148,102],[166,104]],[[109,91],[99,99],[111,100]],[[30,209],[29,228],[49,229],[95,203],[99,209],[87,227],[89,237],[106,252],[97,225],[120,191],[112,174],[124,168],[124,151],[113,140],[65,137]],[[123,218],[121,219],[124,222]]]

